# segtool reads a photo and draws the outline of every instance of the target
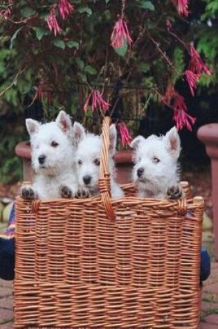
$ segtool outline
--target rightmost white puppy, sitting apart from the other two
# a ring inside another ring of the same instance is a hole
[[[152,135],[147,139],[137,136],[130,146],[136,150],[133,180],[138,197],[181,197],[178,165],[181,145],[176,127],[165,136]]]

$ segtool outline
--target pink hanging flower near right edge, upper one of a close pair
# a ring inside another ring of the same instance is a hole
[[[210,70],[208,69],[208,66],[204,64],[203,60],[201,60],[201,56],[197,52],[197,50],[190,44],[189,46],[189,53],[191,56],[191,60],[188,66],[188,69],[192,71],[193,73],[199,75],[199,78],[202,74],[202,72],[205,72],[206,74],[210,75]]]

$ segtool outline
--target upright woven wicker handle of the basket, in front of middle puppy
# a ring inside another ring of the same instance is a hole
[[[111,204],[111,183],[109,173],[109,127],[111,124],[111,118],[105,116],[102,123],[102,141],[101,141],[101,154],[100,154],[100,195],[102,198],[102,204],[105,207],[105,212],[109,220],[115,220],[115,213]]]

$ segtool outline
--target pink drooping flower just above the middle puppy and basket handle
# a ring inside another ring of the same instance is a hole
[[[87,101],[84,104],[84,112],[87,112],[87,109],[89,107],[89,104],[91,102],[91,111],[94,112],[95,109],[100,109],[100,112],[105,113],[109,109],[109,103],[107,103],[102,98],[102,93],[99,90],[93,90],[87,97]]]

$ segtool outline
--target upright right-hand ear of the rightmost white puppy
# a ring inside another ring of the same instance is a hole
[[[179,158],[181,143],[176,127],[172,127],[165,135],[165,147],[175,159]]]

